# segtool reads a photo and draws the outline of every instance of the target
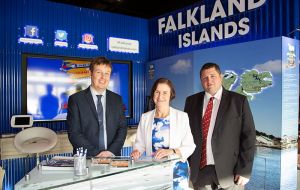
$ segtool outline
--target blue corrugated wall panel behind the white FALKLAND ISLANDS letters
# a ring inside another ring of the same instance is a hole
[[[220,0],[225,12],[227,13],[228,0]],[[264,0],[260,0],[263,2]],[[246,11],[242,13],[234,12],[234,15],[227,16],[225,18],[217,17],[214,21],[183,28],[173,32],[158,34],[158,19],[165,17],[165,24],[167,25],[168,16],[172,16],[175,23],[177,23],[177,13],[182,12],[183,18],[186,18],[186,12],[188,9],[193,10],[195,7],[205,5],[206,16],[209,16],[212,12],[215,2],[212,1],[199,1],[194,5],[185,7],[183,9],[173,11],[153,18],[149,22],[149,59],[155,60],[163,57],[176,55],[179,53],[190,52],[198,49],[211,48],[216,46],[222,46],[227,44],[234,44],[240,42],[247,42],[252,40],[266,39],[278,36],[296,37],[299,39],[299,31],[290,34],[294,29],[300,28],[299,21],[299,0],[265,0],[265,3],[259,8],[253,10],[247,10],[247,0],[239,1],[245,2]],[[254,1],[258,2],[258,1]],[[200,9],[200,8],[199,8]],[[200,20],[200,11],[196,13],[195,18]],[[198,44],[185,48],[178,47],[178,35],[191,31],[200,33],[203,28],[210,29],[211,26],[218,26],[219,24],[229,21],[238,22],[241,18],[247,17],[250,20],[250,31],[246,35],[235,35],[232,38],[216,40],[213,42]],[[183,19],[183,23],[185,19]],[[176,26],[178,26],[176,24]]]

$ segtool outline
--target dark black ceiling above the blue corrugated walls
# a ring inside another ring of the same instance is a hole
[[[186,7],[200,0],[49,0],[90,9],[153,18]]]

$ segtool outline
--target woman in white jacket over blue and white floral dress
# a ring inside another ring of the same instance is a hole
[[[151,98],[155,109],[141,116],[131,156],[138,159],[146,152],[147,156],[156,159],[173,155],[180,157],[181,161],[175,164],[173,172],[173,189],[185,189],[188,186],[187,158],[195,149],[188,115],[170,107],[175,90],[172,82],[166,78],[155,81]]]

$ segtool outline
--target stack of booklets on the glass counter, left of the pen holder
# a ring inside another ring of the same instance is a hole
[[[66,156],[54,156],[49,161],[41,162],[42,170],[73,170],[74,158]]]

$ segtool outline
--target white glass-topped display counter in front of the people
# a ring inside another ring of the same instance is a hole
[[[73,170],[42,170],[35,167],[22,178],[15,189],[172,189],[173,168],[178,158],[153,160],[144,157],[129,167],[92,165],[87,161],[88,174],[75,176]]]

